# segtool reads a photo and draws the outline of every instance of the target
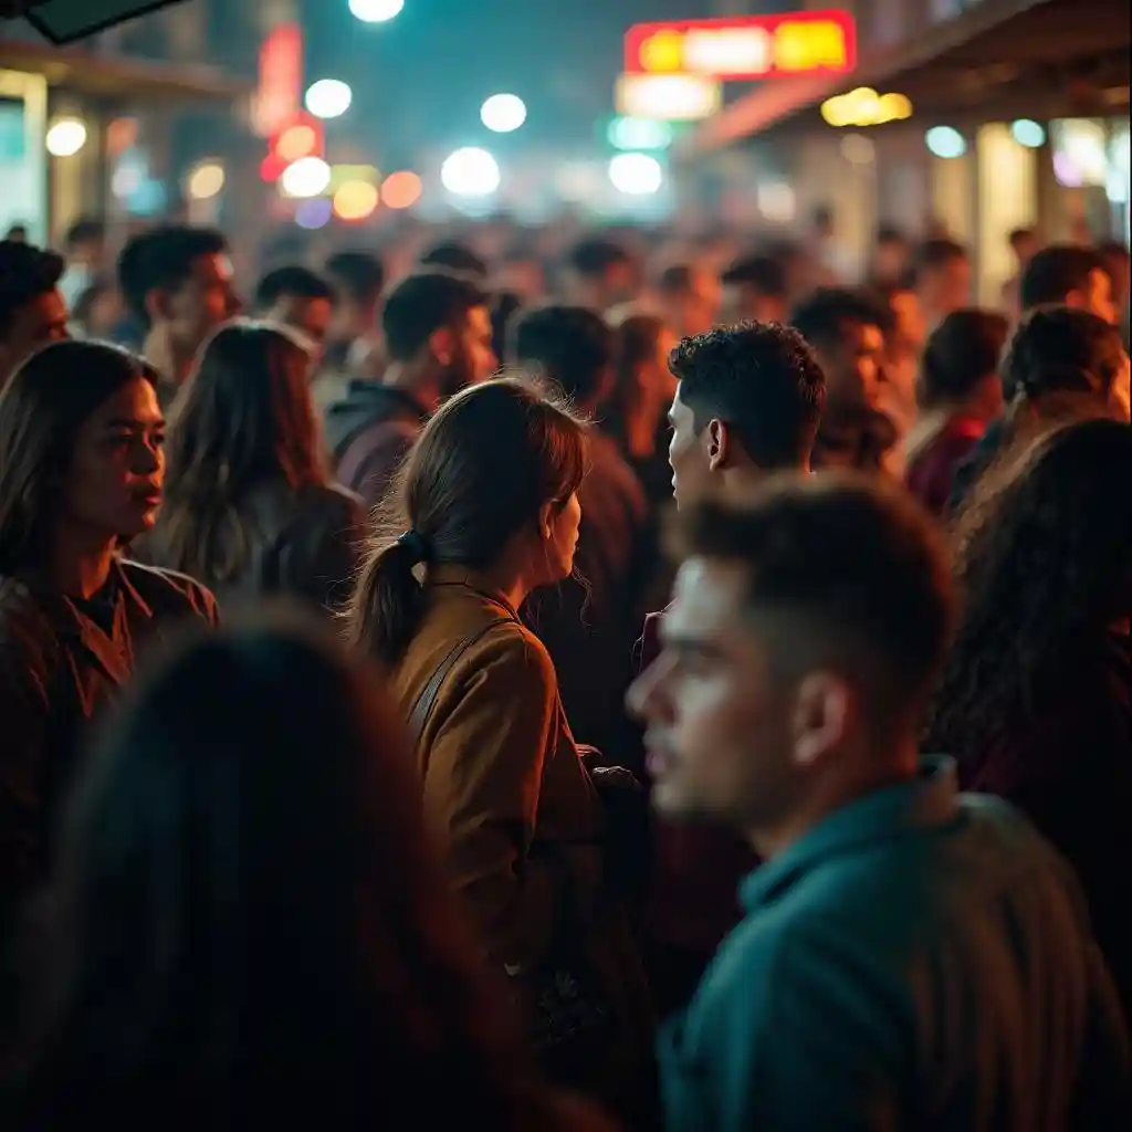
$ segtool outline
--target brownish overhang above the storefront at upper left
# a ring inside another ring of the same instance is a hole
[[[254,89],[214,67],[103,55],[8,35],[0,35],[0,69],[43,75],[51,86],[123,103],[231,101]]]

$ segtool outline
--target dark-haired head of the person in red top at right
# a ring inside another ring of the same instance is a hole
[[[920,367],[917,400],[921,409],[959,405],[998,369],[1010,334],[1005,316],[994,310],[955,310],[932,332]]]

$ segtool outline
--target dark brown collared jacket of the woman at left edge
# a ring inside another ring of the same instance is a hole
[[[217,623],[213,595],[134,561],[115,563],[85,602],[0,577],[0,909],[48,871],[51,826],[91,719],[130,683],[146,645],[191,619]]]

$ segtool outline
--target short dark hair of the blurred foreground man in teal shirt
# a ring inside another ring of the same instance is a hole
[[[746,505],[676,516],[671,547],[746,567],[753,614],[784,617],[772,666],[871,676],[872,711],[924,710],[955,602],[942,533],[899,483],[854,473],[781,475]]]

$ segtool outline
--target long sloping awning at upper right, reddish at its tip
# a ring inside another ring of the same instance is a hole
[[[854,75],[762,84],[687,135],[676,154],[818,127],[821,104],[858,86],[908,95],[917,117],[1047,118],[1067,113],[1066,103],[1074,113],[1116,113],[1129,102],[1130,46],[1127,0],[981,0],[902,43],[866,49]]]

